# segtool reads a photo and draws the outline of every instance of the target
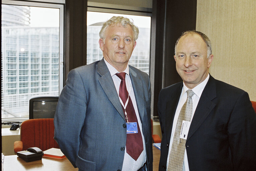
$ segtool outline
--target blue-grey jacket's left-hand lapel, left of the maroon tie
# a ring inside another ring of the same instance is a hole
[[[106,63],[104,62],[104,59],[102,59],[101,61],[98,62],[97,72],[101,76],[101,77],[99,77],[98,80],[99,80],[99,83],[100,83],[103,91],[105,92],[109,101],[113,104],[114,108],[121,115],[123,120],[125,120],[123,110],[122,110],[122,106],[121,106],[121,103],[119,101],[118,94],[116,92],[113,79],[110,75],[110,72],[107,68]]]

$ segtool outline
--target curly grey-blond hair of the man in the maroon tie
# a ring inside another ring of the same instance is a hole
[[[106,37],[105,31],[106,31],[108,26],[118,25],[118,24],[121,24],[123,27],[126,27],[127,25],[130,25],[132,27],[132,30],[133,30],[134,41],[137,40],[137,38],[139,36],[139,28],[136,25],[133,24],[132,20],[130,20],[129,18],[126,18],[126,17],[121,17],[121,16],[113,16],[112,18],[110,18],[109,20],[107,20],[103,23],[102,28],[99,32],[100,38],[102,38],[103,40],[105,39],[105,37]]]

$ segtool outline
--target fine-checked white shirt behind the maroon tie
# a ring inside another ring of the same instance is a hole
[[[121,79],[118,76],[115,75],[116,73],[119,73],[119,72],[110,63],[108,63],[105,59],[104,59],[104,61],[107,65],[107,67],[108,67],[110,75],[112,76],[112,79],[113,79],[114,84],[115,84],[116,92],[119,96],[119,86],[120,86]],[[144,136],[143,136],[143,132],[142,132],[142,124],[141,124],[141,120],[140,120],[140,116],[139,116],[139,112],[138,112],[138,108],[137,108],[137,103],[136,103],[136,99],[135,99],[135,95],[134,95],[134,91],[133,91],[132,81],[131,81],[131,78],[130,78],[130,75],[129,75],[129,66],[128,65],[127,65],[126,69],[123,72],[126,73],[125,83],[126,83],[126,88],[128,89],[127,91],[129,91],[130,88],[131,88],[130,97],[131,97],[131,100],[133,102],[133,107],[134,107],[134,110],[135,110],[135,113],[136,113],[136,116],[137,116],[137,119],[138,119],[140,130],[141,130],[142,141],[143,141],[143,151],[142,151],[141,155],[139,156],[139,158],[137,159],[137,161],[135,161],[126,152],[126,148],[125,148],[122,171],[137,171],[146,162],[146,159],[147,159],[147,157],[146,157],[146,147],[145,147],[145,140],[144,140]],[[119,100],[120,100],[120,98],[119,98]],[[121,100],[120,100],[120,103],[121,103]]]

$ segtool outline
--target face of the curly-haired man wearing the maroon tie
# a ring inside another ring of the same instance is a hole
[[[108,26],[104,42],[100,38],[99,45],[104,59],[119,72],[123,71],[119,69],[126,68],[136,46],[132,27],[130,25],[123,27],[121,24]]]

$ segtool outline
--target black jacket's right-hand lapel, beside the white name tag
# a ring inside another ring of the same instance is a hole
[[[216,106],[216,104],[212,102],[214,98],[216,98],[216,84],[215,79],[210,75],[210,78],[207,84],[205,85],[200,100],[197,104],[189,128],[187,141],[196,132],[196,130],[200,127],[200,125],[203,123],[206,117],[210,114],[212,109]]]

